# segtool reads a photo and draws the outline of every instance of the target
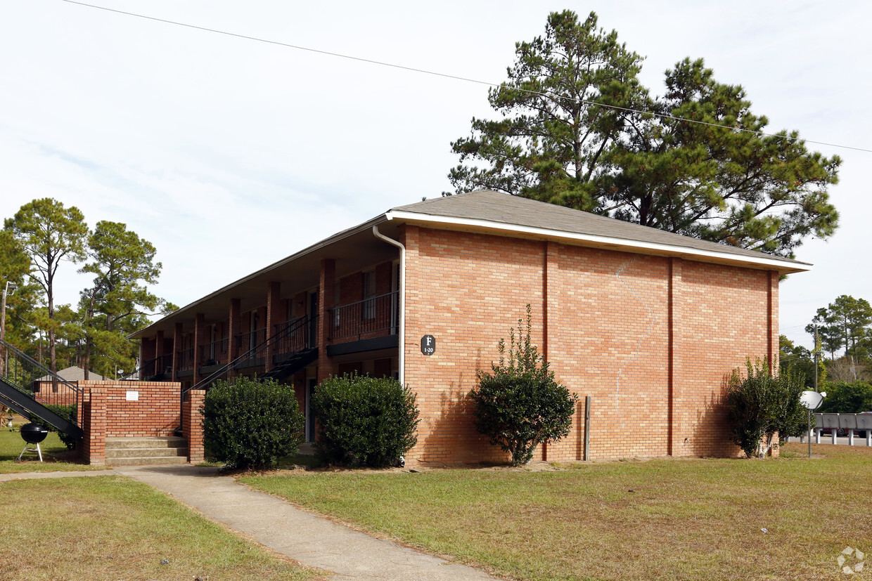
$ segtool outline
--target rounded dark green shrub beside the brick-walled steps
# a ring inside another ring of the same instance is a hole
[[[200,413],[206,456],[230,468],[270,468],[303,443],[294,388],[275,380],[215,382]]]

